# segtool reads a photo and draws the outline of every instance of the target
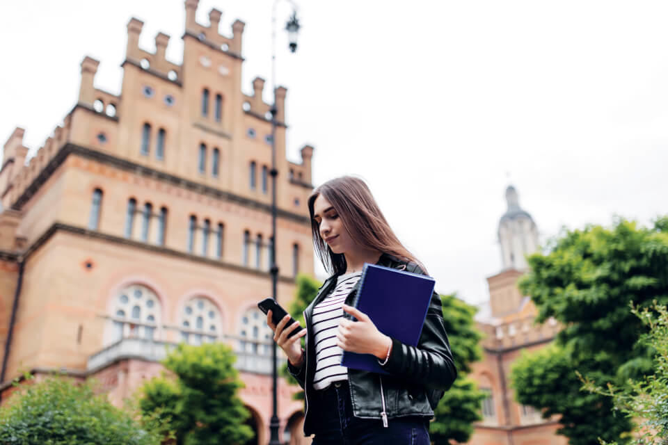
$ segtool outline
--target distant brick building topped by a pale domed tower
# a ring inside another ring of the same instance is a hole
[[[535,325],[538,314],[530,297],[522,296],[518,278],[527,270],[525,256],[538,250],[538,229],[529,213],[521,209],[514,187],[506,190],[508,210],[501,217],[498,240],[502,270],[488,277],[491,317],[478,323],[485,334],[484,356],[473,366],[472,378],[488,393],[482,405],[483,421],[475,428],[472,445],[565,445],[555,435],[559,423],[541,419],[540,412],[515,401],[510,369],[522,350],[543,348],[554,339],[559,326],[554,320]]]

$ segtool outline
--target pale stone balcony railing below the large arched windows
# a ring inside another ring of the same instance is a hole
[[[264,346],[263,341],[253,341],[244,339],[245,343],[258,343],[258,346]],[[239,343],[238,341],[234,343]],[[152,339],[143,339],[139,337],[129,337],[120,339],[116,343],[112,343],[106,348],[88,357],[87,369],[88,371],[102,369],[104,366],[112,364],[120,359],[141,359],[148,362],[159,362],[167,356],[169,350],[175,348],[177,343],[168,341],[157,341]],[[239,371],[271,374],[271,348],[257,348],[264,352],[269,351],[269,354],[264,355],[253,352],[235,351],[237,355],[237,362],[235,367]],[[278,368],[282,367],[287,359],[278,351]]]

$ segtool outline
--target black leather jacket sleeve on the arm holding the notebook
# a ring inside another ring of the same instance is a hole
[[[411,264],[409,272],[421,273],[417,265]],[[424,319],[422,334],[417,346],[409,346],[397,339],[392,339],[392,351],[388,362],[382,366],[385,371],[397,378],[405,379],[431,387],[450,389],[457,376],[454,359],[447,340],[443,323],[443,305],[440,296],[434,292]]]

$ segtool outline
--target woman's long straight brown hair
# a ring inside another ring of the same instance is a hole
[[[390,228],[367,184],[362,179],[343,176],[327,181],[308,197],[313,245],[320,261],[329,273],[336,275],[344,273],[347,264],[344,255],[332,252],[320,236],[319,225],[313,218],[313,203],[319,195],[323,195],[332,204],[341,218],[343,227],[354,242],[405,261],[414,261],[424,270],[420,261],[417,261],[413,254],[408,252]],[[425,273],[427,273],[426,270]]]

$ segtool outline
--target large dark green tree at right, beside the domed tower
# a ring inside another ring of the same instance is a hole
[[[552,346],[514,364],[518,401],[546,418],[559,414],[557,432],[571,445],[625,442],[630,419],[612,410],[610,398],[579,391],[575,371],[600,385],[651,372],[651,352],[637,343],[646,327],[628,305],[668,302],[668,218],[649,228],[619,218],[609,228],[564,229],[547,254],[528,262],[519,286],[538,308],[536,321],[554,317],[564,328]]]

